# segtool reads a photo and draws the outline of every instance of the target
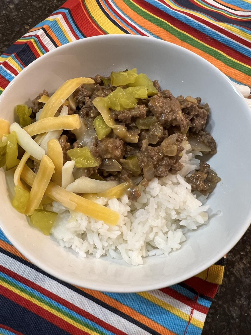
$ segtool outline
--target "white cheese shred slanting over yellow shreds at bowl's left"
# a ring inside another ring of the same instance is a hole
[[[10,126],[10,132],[15,131],[17,143],[27,151],[31,156],[40,160],[45,154],[45,150],[41,148],[16,122]]]

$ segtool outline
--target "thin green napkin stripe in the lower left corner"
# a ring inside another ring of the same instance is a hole
[[[41,297],[35,295],[34,293],[32,293],[32,292],[26,290],[26,289],[23,288],[22,286],[17,285],[16,283],[12,282],[11,280],[8,280],[8,279],[2,277],[1,275],[0,275],[0,279],[1,279],[2,281],[4,281],[6,284],[8,284],[8,285],[14,287],[15,289],[17,289],[18,291],[21,291],[21,292],[27,294],[28,296],[34,298],[34,299],[37,300],[38,302],[40,302],[40,303],[42,303],[42,304],[45,304],[46,306],[52,308],[53,310],[55,310],[55,311],[57,311],[57,312],[63,314],[63,315],[66,316],[67,318],[69,318],[69,319],[71,319],[71,320],[77,322],[79,325],[81,325],[81,326],[83,326],[83,327],[86,327],[86,328],[88,328],[88,329],[90,329],[90,330],[92,330],[92,331],[94,331],[94,332],[96,332],[96,333],[98,333],[98,334],[100,334],[100,335],[106,335],[104,332],[102,332],[102,331],[100,331],[100,330],[94,328],[93,326],[89,325],[88,323],[85,323],[84,321],[79,320],[78,318],[76,318],[76,317],[70,315],[68,312],[66,312],[66,311],[64,311],[64,310],[62,310],[62,309],[60,309],[60,308],[57,307],[57,306],[54,306],[52,303],[49,303],[47,300],[45,300],[45,299],[43,299],[43,298],[41,298]]]

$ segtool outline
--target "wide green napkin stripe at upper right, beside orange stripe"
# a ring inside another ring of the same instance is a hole
[[[224,64],[242,72],[246,75],[251,75],[251,69],[247,68],[245,65],[239,64],[232,59],[229,59],[228,57],[222,55],[219,51],[212,49],[211,47],[208,47],[198,41],[195,41],[192,37],[187,36],[184,32],[181,32],[177,30],[176,28],[173,28],[168,22],[164,22],[161,19],[152,16],[151,14],[145,12],[138,6],[136,6],[134,3],[132,3],[130,0],[124,0],[124,2],[136,13],[138,13],[140,16],[144,17],[146,20],[152,22],[153,24],[165,29],[166,31],[170,32],[173,36],[177,37],[180,41],[183,41],[185,43],[188,43],[195,48],[207,53],[208,55],[213,56],[214,58],[220,60]]]

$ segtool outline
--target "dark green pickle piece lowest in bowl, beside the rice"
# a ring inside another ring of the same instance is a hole
[[[45,235],[50,235],[52,226],[56,220],[58,213],[44,209],[35,209],[30,216],[31,223],[39,228]]]

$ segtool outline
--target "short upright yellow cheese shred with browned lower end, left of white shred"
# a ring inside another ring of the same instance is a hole
[[[47,143],[47,152],[55,165],[55,173],[52,175],[52,181],[62,186],[63,151],[58,139],[52,138]]]

